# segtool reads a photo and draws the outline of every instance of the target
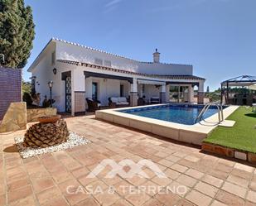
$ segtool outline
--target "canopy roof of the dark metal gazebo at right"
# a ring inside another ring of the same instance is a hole
[[[221,83],[221,86],[227,87],[248,87],[256,84],[256,76],[242,75],[232,79],[225,80]]]

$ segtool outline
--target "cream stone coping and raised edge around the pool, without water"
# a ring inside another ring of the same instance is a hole
[[[169,103],[152,104],[153,106],[163,106]],[[176,103],[175,103],[176,104]],[[184,104],[184,103],[183,103]],[[189,103],[186,103],[189,104]],[[193,105],[193,104],[192,104]],[[146,106],[138,106],[133,108],[146,108]],[[97,110],[95,117],[108,122],[114,122],[126,127],[133,127],[144,132],[171,138],[176,141],[183,141],[195,145],[201,145],[203,139],[215,129],[218,125],[213,125],[213,122],[218,122],[218,113],[207,117],[205,121],[198,122],[194,125],[184,125],[175,122],[167,122],[163,120],[153,119],[150,117],[140,117],[129,113],[121,113],[119,110],[133,109],[128,108],[110,108],[105,110]],[[229,117],[231,113],[239,108],[239,106],[229,106],[223,110],[224,119]],[[210,123],[211,122],[211,123]]]

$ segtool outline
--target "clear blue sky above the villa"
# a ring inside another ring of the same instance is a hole
[[[240,74],[256,75],[255,0],[25,0],[36,38],[27,68],[57,37],[152,61],[194,66],[210,90]]]

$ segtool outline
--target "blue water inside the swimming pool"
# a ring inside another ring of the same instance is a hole
[[[203,107],[204,105],[166,104],[144,108],[123,109],[118,110],[118,112],[164,120],[167,122],[193,125],[195,124],[196,117],[198,117]],[[218,113],[218,109],[215,106],[210,106],[208,111],[205,113],[204,118],[210,117],[215,113]]]

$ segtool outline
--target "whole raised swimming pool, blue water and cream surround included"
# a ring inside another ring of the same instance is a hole
[[[196,117],[204,105],[195,104],[157,104],[133,108],[110,108],[97,110],[96,118],[114,122],[124,127],[131,127],[144,132],[183,141],[195,145],[201,142],[218,126],[218,113],[211,107],[205,113],[205,121],[195,123]],[[224,107],[224,119],[239,108]]]

